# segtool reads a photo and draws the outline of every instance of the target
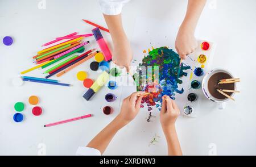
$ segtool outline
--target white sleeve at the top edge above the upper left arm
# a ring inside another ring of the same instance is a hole
[[[99,0],[101,11],[106,15],[118,15],[130,0]]]

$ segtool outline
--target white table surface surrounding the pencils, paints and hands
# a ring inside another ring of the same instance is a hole
[[[81,19],[106,26],[97,1],[46,0],[46,9],[38,9],[39,2],[0,1],[0,155],[40,155],[42,148],[46,155],[75,155],[77,147],[86,145],[119,112],[118,101],[111,104],[115,109],[112,115],[106,116],[101,111],[108,105],[104,102],[104,95],[110,92],[107,87],[89,102],[82,98],[86,89],[77,81],[76,73],[85,70],[90,78],[96,79],[98,73],[89,69],[92,60],[60,78],[72,87],[28,82],[21,87],[11,85],[13,77],[32,66],[31,57],[43,43],[76,31],[90,33],[92,26]],[[208,1],[203,11],[196,36],[218,44],[212,68],[226,68],[240,77],[241,93],[235,96],[236,102],[227,103],[225,110],[220,111],[216,104],[201,98],[203,102],[197,118],[180,116],[176,128],[184,155],[209,155],[211,149],[216,150],[217,155],[256,155],[255,6],[253,0],[213,0]],[[180,24],[186,7],[187,1],[131,1],[123,9],[123,26],[131,39],[138,16]],[[110,36],[105,32],[103,35],[111,43]],[[3,45],[4,36],[12,36],[14,44],[10,47]],[[89,47],[96,47],[93,37],[90,40]],[[43,77],[42,70],[26,76]],[[122,98],[121,90],[118,87],[113,92]],[[123,90],[129,94],[135,88],[125,87]],[[30,95],[40,97],[41,116],[32,115],[32,106],[27,101]],[[12,119],[14,103],[18,101],[26,104],[22,123]],[[43,127],[46,123],[85,114],[94,116],[51,128]],[[140,112],[133,122],[117,133],[105,155],[166,155],[158,111],[153,114],[156,118],[148,123],[147,113]],[[155,135],[159,136],[159,142],[150,145]]]

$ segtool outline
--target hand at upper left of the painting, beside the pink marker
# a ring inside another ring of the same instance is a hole
[[[114,64],[123,66],[129,72],[129,66],[131,60],[133,59],[133,52],[131,51],[131,46],[126,37],[114,43],[114,51],[112,55],[112,61]]]

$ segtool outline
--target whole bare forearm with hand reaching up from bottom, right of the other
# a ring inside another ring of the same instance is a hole
[[[165,98],[165,99],[164,99]],[[176,103],[169,97],[164,96],[160,111],[160,122],[168,145],[168,155],[182,156],[179,139],[175,129],[175,122],[180,110]]]

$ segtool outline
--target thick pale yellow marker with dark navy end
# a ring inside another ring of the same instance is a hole
[[[90,89],[86,91],[86,93],[82,96],[89,101],[89,99],[97,93],[97,91],[101,88],[101,86],[105,85],[105,83],[109,80],[109,73],[104,71],[98,76],[97,80],[90,86]]]

